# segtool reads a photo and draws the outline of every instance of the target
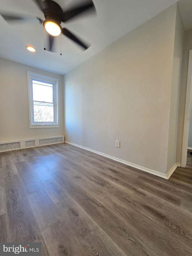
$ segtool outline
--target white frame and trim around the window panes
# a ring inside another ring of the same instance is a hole
[[[57,128],[59,127],[59,80],[57,78],[44,76],[34,72],[27,71],[28,79],[28,98],[29,98],[29,128]],[[33,86],[32,80],[38,80],[44,83],[52,83],[53,85],[53,106],[54,106],[54,122],[34,122],[33,108]]]

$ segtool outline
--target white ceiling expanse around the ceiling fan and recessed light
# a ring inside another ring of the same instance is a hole
[[[72,30],[82,39],[90,42],[91,47],[88,50],[81,51],[76,44],[62,36],[62,56],[60,56],[59,37],[56,53],[44,51],[42,25],[19,23],[10,26],[0,16],[0,57],[65,74],[178,0],[93,1],[97,9],[97,17],[61,24],[62,27]],[[191,2],[191,0],[184,1]],[[74,0],[55,0],[55,2],[62,8],[67,8]],[[0,11],[35,15],[44,20],[43,13],[32,0],[0,0]],[[36,53],[27,51],[27,45],[35,47]]]

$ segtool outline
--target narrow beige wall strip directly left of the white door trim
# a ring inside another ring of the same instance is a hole
[[[183,127],[184,127],[185,100],[186,100],[186,90],[187,90],[189,50],[191,50],[191,49],[192,49],[192,29],[189,29],[189,30],[185,31],[184,46],[183,46],[181,88],[180,88],[180,98],[179,98],[177,155],[176,155],[176,161],[178,163],[181,163],[181,156],[182,156]]]

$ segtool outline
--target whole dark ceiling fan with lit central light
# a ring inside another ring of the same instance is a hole
[[[38,8],[43,12],[45,20],[43,21],[39,17],[35,17],[35,20],[38,20],[40,24],[43,24],[44,29],[49,33],[49,51],[53,51],[54,39],[56,36],[61,34],[67,36],[76,44],[81,46],[84,50],[88,49],[88,45],[85,44],[81,39],[76,37],[72,32],[70,32],[66,28],[61,27],[61,22],[67,22],[74,17],[79,16],[79,14],[91,13],[96,14],[95,5],[92,0],[86,1],[86,4],[79,5],[68,11],[63,11],[60,5],[52,0],[33,0],[37,5]],[[4,14],[0,13],[5,21],[8,23],[18,22],[18,21],[27,21],[27,20],[34,20],[32,17],[24,17],[20,15],[14,14]],[[44,48],[44,50],[46,50]]]

